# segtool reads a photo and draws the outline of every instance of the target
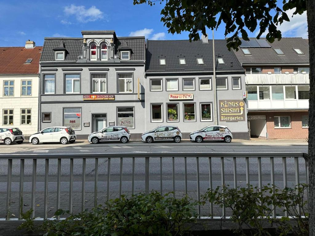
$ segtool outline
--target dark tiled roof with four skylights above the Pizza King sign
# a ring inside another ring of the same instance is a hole
[[[146,52],[146,72],[183,72],[183,71],[213,71],[212,41],[202,40],[148,40]],[[243,71],[235,54],[228,51],[226,40],[215,40],[215,57],[222,57],[225,64],[218,64],[217,71]],[[186,65],[180,65],[179,59],[185,58]],[[199,65],[197,58],[202,58],[204,64]],[[166,65],[160,65],[160,59],[165,59]],[[231,62],[233,67],[231,67]]]

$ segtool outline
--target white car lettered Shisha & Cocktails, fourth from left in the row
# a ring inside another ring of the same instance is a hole
[[[152,143],[153,141],[174,141],[179,143],[182,139],[181,132],[177,126],[159,126],[151,131],[141,134],[143,141]]]

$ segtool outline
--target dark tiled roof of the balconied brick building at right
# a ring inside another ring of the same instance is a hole
[[[269,42],[268,42],[269,43]],[[242,64],[298,64],[309,63],[308,40],[303,38],[282,38],[269,43],[271,48],[248,48],[251,54],[245,55],[241,48],[234,53]],[[280,48],[284,54],[277,54],[273,48]],[[297,54],[299,48],[304,54]]]

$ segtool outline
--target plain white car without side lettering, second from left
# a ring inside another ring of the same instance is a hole
[[[31,135],[29,142],[36,145],[38,143],[54,143],[61,144],[74,143],[76,141],[76,134],[71,127],[54,126],[45,128],[38,133]]]

